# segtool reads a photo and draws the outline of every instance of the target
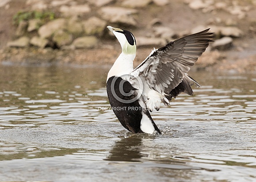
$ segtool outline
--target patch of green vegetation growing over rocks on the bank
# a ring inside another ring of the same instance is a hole
[[[22,21],[28,21],[30,19],[40,19],[42,23],[51,21],[55,18],[55,14],[52,11],[19,11],[12,20],[14,25],[19,25]]]

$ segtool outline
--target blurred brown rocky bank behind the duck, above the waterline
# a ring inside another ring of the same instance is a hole
[[[256,0],[2,0],[0,62],[111,65],[121,51],[111,25],[136,37],[136,66],[153,47],[211,28],[196,69],[256,73],[255,17]]]

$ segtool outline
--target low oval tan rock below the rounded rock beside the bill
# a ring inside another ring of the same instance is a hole
[[[93,48],[97,45],[98,40],[95,36],[82,36],[74,40],[75,48]]]

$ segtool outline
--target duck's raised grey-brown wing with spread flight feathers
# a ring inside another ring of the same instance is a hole
[[[190,85],[200,85],[187,72],[208,47],[213,33],[209,29],[184,36],[153,51],[130,74],[144,77],[148,86],[168,99],[181,92],[193,94]]]

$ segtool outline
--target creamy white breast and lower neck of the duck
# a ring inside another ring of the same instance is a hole
[[[109,70],[108,78],[111,76],[122,76],[130,74],[134,70],[135,55],[136,54],[125,54],[122,52],[116,59],[112,68]]]

